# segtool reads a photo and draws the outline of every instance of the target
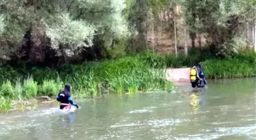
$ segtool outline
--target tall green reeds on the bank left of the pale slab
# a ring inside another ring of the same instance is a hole
[[[10,110],[12,101],[40,95],[56,96],[65,84],[72,85],[72,95],[88,97],[103,92],[130,94],[152,89],[171,90],[173,85],[164,79],[164,61],[155,63],[140,56],[112,61],[91,62],[59,67],[2,67],[0,110]],[[30,74],[30,76],[27,76]]]

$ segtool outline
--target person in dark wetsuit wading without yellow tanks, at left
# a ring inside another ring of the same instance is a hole
[[[56,100],[60,102],[59,109],[61,110],[64,107],[69,106],[69,103],[78,108],[78,104],[76,104],[75,101],[72,100],[72,97],[70,95],[70,89],[71,87],[69,85],[66,85],[64,90],[59,92],[59,94],[56,96]]]

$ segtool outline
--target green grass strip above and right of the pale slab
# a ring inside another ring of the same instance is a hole
[[[188,57],[174,57],[172,54],[155,55],[149,57],[158,64],[165,61],[166,67],[193,67],[198,62],[203,62],[203,70],[208,79],[242,78],[256,76],[256,53],[251,51],[240,52],[226,58],[220,58],[209,51],[190,50]],[[148,60],[149,60],[148,58]],[[153,64],[153,63],[150,63]]]

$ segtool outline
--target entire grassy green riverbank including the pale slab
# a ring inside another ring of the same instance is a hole
[[[148,53],[58,67],[5,65],[0,71],[0,110],[11,110],[15,101],[20,102],[18,107],[22,108],[27,100],[35,97],[54,98],[64,84],[72,85],[72,96],[75,98],[96,97],[104,93],[132,94],[154,89],[170,91],[175,78],[186,80],[189,67],[200,60],[203,61],[207,79],[256,76],[255,53],[236,54],[229,58],[206,56],[190,54],[187,58],[175,58],[171,54]],[[181,67],[184,67],[183,72],[181,69],[172,69]]]

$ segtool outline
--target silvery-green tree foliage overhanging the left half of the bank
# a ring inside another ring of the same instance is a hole
[[[31,38],[37,38],[31,34],[35,28],[46,34],[56,54],[69,51],[70,56],[92,47],[94,36],[100,36],[104,47],[109,47],[115,39],[130,35],[122,16],[123,0],[2,0],[0,6],[1,45],[14,48],[23,45],[28,31]]]

